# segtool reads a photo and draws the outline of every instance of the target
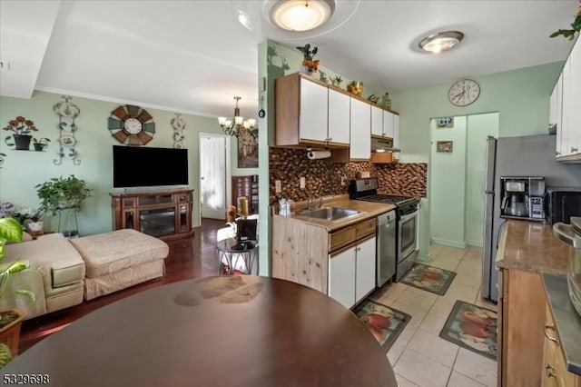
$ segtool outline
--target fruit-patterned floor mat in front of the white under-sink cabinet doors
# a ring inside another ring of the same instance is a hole
[[[409,323],[411,316],[396,309],[372,300],[364,300],[353,310],[361,323],[364,323],[369,332],[379,342],[379,346],[388,352],[389,347],[396,341],[399,333]]]

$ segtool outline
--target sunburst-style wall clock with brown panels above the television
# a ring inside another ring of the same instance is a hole
[[[108,128],[121,144],[144,145],[153,140],[155,123],[152,114],[133,104],[125,104],[111,112]]]

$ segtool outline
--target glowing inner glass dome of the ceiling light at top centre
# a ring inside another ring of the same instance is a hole
[[[287,31],[310,31],[329,21],[334,11],[330,0],[281,0],[271,8],[271,22]]]

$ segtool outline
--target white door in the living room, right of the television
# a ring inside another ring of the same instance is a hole
[[[200,134],[200,213],[226,219],[227,176],[230,176],[230,136]]]

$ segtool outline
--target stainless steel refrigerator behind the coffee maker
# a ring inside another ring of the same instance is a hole
[[[581,187],[581,164],[557,163],[555,135],[488,137],[485,181],[482,297],[498,300],[498,270],[495,265],[502,224],[500,176],[543,176],[547,187]],[[525,222],[525,221],[517,221]]]

